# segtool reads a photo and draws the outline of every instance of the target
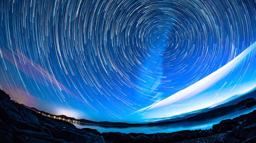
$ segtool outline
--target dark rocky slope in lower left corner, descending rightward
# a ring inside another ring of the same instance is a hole
[[[0,94],[0,142],[105,142],[100,135],[42,116]]]

